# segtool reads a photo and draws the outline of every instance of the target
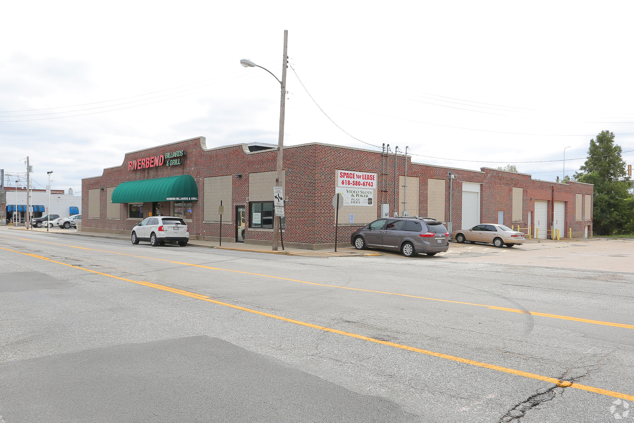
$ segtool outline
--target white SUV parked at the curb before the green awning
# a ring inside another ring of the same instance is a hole
[[[178,242],[184,247],[190,240],[190,228],[181,218],[172,216],[153,216],[143,219],[132,228],[132,243],[150,241],[152,247],[165,244],[165,242]]]

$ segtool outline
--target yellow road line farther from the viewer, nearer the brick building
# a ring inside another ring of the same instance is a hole
[[[58,244],[56,242],[46,242],[46,241],[32,240],[32,239],[29,239],[29,238],[9,237],[7,235],[0,235],[0,237],[15,238],[15,239],[19,239],[19,240],[32,241],[32,242],[41,242],[43,244],[61,245],[63,247],[77,248],[77,249],[81,249],[81,250],[110,252],[112,254],[119,254],[120,256],[128,256],[128,257],[136,257],[136,258],[139,258],[139,259],[165,261],[167,263],[183,264],[184,266],[193,266],[193,267],[209,269],[209,270],[230,271],[230,272],[233,272],[233,273],[242,273],[243,275],[252,275],[252,276],[259,276],[259,277],[264,277],[264,278],[288,280],[290,282],[306,283],[308,285],[316,285],[316,286],[320,286],[320,287],[349,289],[349,290],[362,291],[362,292],[373,292],[375,294],[388,294],[388,295],[399,296],[399,297],[410,297],[410,298],[418,298],[418,299],[427,299],[427,300],[430,300],[430,301],[440,301],[442,303],[465,304],[467,306],[486,307],[486,308],[493,309],[493,310],[510,311],[512,313],[524,313],[524,314],[533,315],[533,316],[550,317],[550,318],[562,319],[562,320],[572,320],[573,322],[593,323],[594,325],[604,325],[604,326],[622,327],[622,328],[625,328],[625,329],[634,329],[634,325],[627,325],[625,323],[603,322],[602,320],[584,319],[584,318],[573,317],[573,316],[553,315],[553,314],[550,314],[550,313],[540,313],[538,311],[527,311],[527,310],[521,310],[521,309],[515,309],[515,308],[489,306],[489,305],[486,305],[486,304],[465,303],[464,301],[453,301],[453,300],[449,300],[449,299],[420,297],[420,296],[413,296],[413,295],[409,295],[409,294],[398,294],[397,292],[385,292],[385,291],[378,291],[378,290],[372,290],[372,289],[340,287],[339,285],[328,285],[327,283],[307,282],[305,280],[283,278],[283,277],[271,276],[271,275],[262,275],[261,273],[252,273],[252,272],[242,271],[242,270],[231,270],[231,269],[223,269],[223,268],[214,268],[214,267],[210,267],[210,266],[204,266],[202,264],[184,263],[182,261],[158,259],[158,258],[155,258],[155,257],[135,256],[134,254],[126,254],[124,252],[99,250],[99,249],[87,248],[87,247],[78,247],[77,245]]]

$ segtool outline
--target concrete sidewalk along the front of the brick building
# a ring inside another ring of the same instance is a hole
[[[98,232],[81,232],[76,229],[61,229],[61,228],[49,228],[48,232],[46,228],[32,228],[27,230],[26,228],[20,227],[12,227],[6,226],[9,230],[18,230],[18,231],[27,231],[27,232],[37,232],[37,233],[51,233],[51,234],[61,234],[61,235],[74,235],[77,237],[93,237],[93,238],[108,238],[108,239],[120,239],[129,241],[128,235],[119,235],[117,233],[98,233]],[[221,250],[231,250],[231,251],[245,251],[245,252],[262,252],[265,254],[286,254],[287,256],[304,256],[304,257],[350,257],[350,256],[383,256],[384,254],[377,251],[359,251],[351,247],[351,245],[347,242],[341,242],[340,246],[337,248],[337,252],[335,249],[323,249],[323,250],[307,250],[301,248],[293,248],[286,247],[284,251],[271,251],[270,245],[256,245],[256,244],[242,244],[238,242],[223,242],[223,245],[219,245],[217,241],[200,241],[200,240],[190,240],[188,245],[193,247],[207,247],[207,248],[216,248]]]

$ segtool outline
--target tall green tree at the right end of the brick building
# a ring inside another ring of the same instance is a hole
[[[601,131],[590,140],[588,159],[575,172],[574,180],[594,185],[592,230],[612,235],[634,230],[634,201],[626,174],[623,149],[614,143],[614,133]]]

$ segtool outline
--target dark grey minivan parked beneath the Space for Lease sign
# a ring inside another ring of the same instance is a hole
[[[396,250],[406,257],[419,253],[434,256],[447,251],[449,240],[443,223],[431,218],[378,219],[354,231],[350,238],[358,250],[368,247]]]

